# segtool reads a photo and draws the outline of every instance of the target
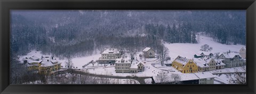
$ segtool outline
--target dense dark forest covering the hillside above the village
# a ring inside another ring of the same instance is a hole
[[[107,47],[141,51],[162,41],[197,43],[202,32],[222,44],[246,44],[245,11],[11,11],[11,55],[30,50],[83,57]]]

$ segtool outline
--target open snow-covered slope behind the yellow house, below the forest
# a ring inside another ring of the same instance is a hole
[[[171,57],[171,60],[173,61],[175,58],[180,55],[181,57],[186,57],[189,59],[194,58],[194,54],[196,54],[200,49],[201,46],[204,44],[208,44],[210,47],[212,47],[212,53],[217,52],[227,52],[227,51],[236,51],[238,52],[242,47],[245,47],[245,45],[226,45],[221,44],[218,42],[213,41],[211,37],[206,36],[199,36],[200,41],[197,44],[192,43],[164,43],[164,45],[169,49],[169,56]]]

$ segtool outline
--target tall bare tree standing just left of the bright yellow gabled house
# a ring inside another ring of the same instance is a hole
[[[166,59],[166,57],[168,56],[169,54],[169,49],[166,48],[163,44],[158,46],[157,48],[157,54],[158,54],[158,57],[161,61],[161,65],[164,66],[164,60]]]

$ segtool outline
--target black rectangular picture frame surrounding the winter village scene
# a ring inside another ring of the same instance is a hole
[[[0,93],[255,93],[255,0],[1,0]],[[246,10],[247,84],[10,84],[10,10]]]

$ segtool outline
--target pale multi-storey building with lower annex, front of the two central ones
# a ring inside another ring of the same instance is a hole
[[[137,73],[144,71],[144,65],[142,63],[133,62],[127,57],[116,59],[115,63],[116,73]]]

